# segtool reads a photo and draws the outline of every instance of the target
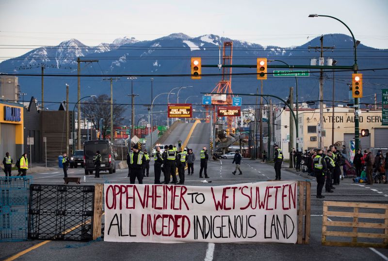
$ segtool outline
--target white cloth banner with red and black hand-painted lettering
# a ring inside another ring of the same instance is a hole
[[[104,184],[104,240],[277,242],[297,240],[297,182],[228,186]]]

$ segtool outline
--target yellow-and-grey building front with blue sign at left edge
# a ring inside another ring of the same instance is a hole
[[[0,156],[21,156],[24,143],[23,106],[0,101]]]

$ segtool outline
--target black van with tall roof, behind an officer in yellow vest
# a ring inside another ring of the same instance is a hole
[[[109,140],[89,140],[83,143],[83,162],[85,168],[85,175],[93,174],[96,171],[94,165],[94,158],[96,152],[99,151],[101,154],[101,170],[108,170],[109,174],[116,172],[116,161],[114,159],[113,146]]]

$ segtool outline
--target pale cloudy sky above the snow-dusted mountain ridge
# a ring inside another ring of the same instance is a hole
[[[58,45],[76,38],[95,46],[115,38],[152,40],[174,32],[217,34],[263,46],[298,46],[327,33],[388,48],[388,0],[0,0],[0,45]],[[307,37],[309,37],[307,39]],[[0,46],[0,61],[29,51]]]

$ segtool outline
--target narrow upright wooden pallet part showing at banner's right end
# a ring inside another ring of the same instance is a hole
[[[310,244],[311,183],[309,181],[298,181],[298,187],[298,240],[296,244]]]

